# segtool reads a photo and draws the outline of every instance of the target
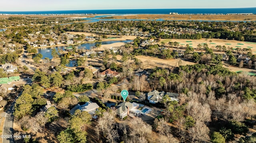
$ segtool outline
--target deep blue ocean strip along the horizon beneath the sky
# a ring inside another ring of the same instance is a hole
[[[132,10],[62,10],[62,11],[29,11],[29,12],[1,12],[1,14],[231,14],[253,13],[256,8],[200,8],[200,9],[132,9]]]

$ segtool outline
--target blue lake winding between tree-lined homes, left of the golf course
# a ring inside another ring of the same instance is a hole
[[[106,45],[106,44],[112,44],[112,43],[117,43],[117,42],[132,42],[133,40],[124,40],[124,41],[103,41],[103,42],[95,42],[95,43],[84,43],[84,44],[80,44],[80,45],[76,45],[76,47],[78,49],[90,49],[91,47],[94,47],[96,44],[102,44],[102,45]],[[63,50],[65,51],[65,47],[68,46],[60,46],[60,47],[50,47],[50,48],[40,48],[37,49],[38,53],[41,53],[43,55],[42,59],[44,58],[49,58],[52,59],[52,49],[56,49],[56,51],[58,50]]]

